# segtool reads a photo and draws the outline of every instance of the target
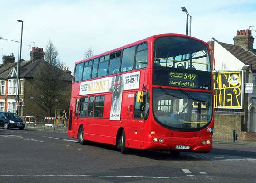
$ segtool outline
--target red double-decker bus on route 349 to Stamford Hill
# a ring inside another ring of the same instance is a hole
[[[68,135],[122,154],[211,151],[210,51],[194,37],[161,34],[76,62]]]

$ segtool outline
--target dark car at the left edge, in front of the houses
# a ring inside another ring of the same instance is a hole
[[[0,112],[0,126],[3,126],[5,129],[19,128],[24,130],[25,124],[15,113]]]

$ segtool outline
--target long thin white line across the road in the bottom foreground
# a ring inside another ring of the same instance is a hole
[[[121,177],[121,178],[146,178],[146,179],[177,179],[177,177],[151,177],[151,176],[94,176],[94,175],[0,175],[0,177]]]

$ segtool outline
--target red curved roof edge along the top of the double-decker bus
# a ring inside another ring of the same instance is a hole
[[[98,55],[94,55],[93,57],[90,57],[90,58],[87,58],[87,59],[83,59],[83,60],[77,61],[77,62],[75,62],[75,64],[78,64],[78,63],[81,63],[81,62],[84,62],[84,61],[87,61],[87,60],[95,59],[95,58],[98,58],[98,57],[107,55],[107,54],[109,54],[109,53],[112,53],[112,52],[115,52],[115,51],[119,51],[119,50],[124,49],[124,48],[131,47],[131,46],[136,45],[136,44],[139,44],[139,43],[143,43],[143,42],[146,42],[146,41],[148,42],[148,41],[152,40],[153,38],[164,37],[164,36],[181,36],[181,37],[188,37],[188,38],[191,38],[191,39],[200,41],[200,42],[202,42],[203,44],[207,44],[206,42],[204,42],[204,41],[202,41],[202,40],[200,40],[200,39],[197,39],[196,37],[187,36],[187,35],[184,35],[184,34],[175,34],[175,33],[158,34],[158,35],[153,35],[153,36],[147,37],[147,38],[145,38],[145,39],[143,39],[143,40],[138,40],[138,41],[136,41],[136,42],[134,42],[134,43],[127,44],[127,45],[124,45],[124,46],[122,46],[122,47],[119,47],[119,48],[110,50],[110,51],[106,51],[106,52],[101,53],[101,54],[98,54]]]

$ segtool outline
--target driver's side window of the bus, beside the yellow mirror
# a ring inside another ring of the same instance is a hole
[[[138,102],[137,98],[142,97],[142,102]],[[138,96],[138,92],[135,95],[135,102],[134,102],[134,111],[133,117],[142,119],[145,116],[145,101],[146,101],[146,92],[143,92],[143,96]]]

